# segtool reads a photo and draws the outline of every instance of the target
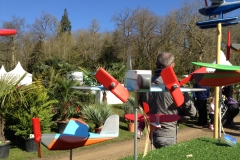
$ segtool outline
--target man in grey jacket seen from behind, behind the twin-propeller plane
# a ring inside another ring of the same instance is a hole
[[[163,52],[157,56],[157,70],[152,76],[151,85],[164,85],[160,73],[162,69],[172,66],[174,67],[174,56],[171,53]],[[146,102],[149,105],[150,114],[179,114],[184,113],[185,116],[195,116],[196,108],[191,101],[189,95],[184,93],[184,103],[178,108],[169,92],[141,92],[139,93],[139,104]],[[161,122],[161,128],[153,131],[153,145],[155,148],[161,148],[176,143],[177,122]]]

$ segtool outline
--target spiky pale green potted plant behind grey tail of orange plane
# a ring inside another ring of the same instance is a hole
[[[100,133],[106,119],[113,114],[111,106],[107,103],[97,103],[84,106],[81,110],[82,117],[95,126],[95,132]]]

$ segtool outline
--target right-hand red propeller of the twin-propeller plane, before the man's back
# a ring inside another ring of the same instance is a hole
[[[176,106],[180,107],[184,102],[184,96],[180,90],[180,84],[178,82],[177,76],[175,75],[175,72],[173,71],[172,66],[164,68],[161,72],[161,77],[165,83],[166,88],[172,95]]]

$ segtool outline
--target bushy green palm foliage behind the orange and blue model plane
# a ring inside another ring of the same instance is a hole
[[[54,113],[58,121],[68,121],[69,118],[78,117],[83,103],[92,101],[91,92],[73,89],[79,86],[79,81],[67,78],[67,75],[76,68],[57,58],[48,59],[44,65],[35,67],[38,77],[43,79],[43,85],[48,89],[51,99],[58,100],[54,105]]]

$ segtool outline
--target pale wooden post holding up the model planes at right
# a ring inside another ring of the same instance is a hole
[[[222,24],[217,25],[217,55],[216,64],[220,63],[220,52],[221,52],[221,41],[222,41]],[[215,110],[214,110],[214,133],[213,138],[218,138],[218,121],[219,121],[219,93],[220,87],[215,87]]]

